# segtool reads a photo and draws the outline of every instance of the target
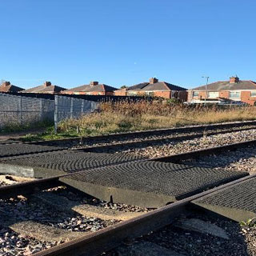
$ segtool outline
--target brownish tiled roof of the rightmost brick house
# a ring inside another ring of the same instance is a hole
[[[206,86],[199,86],[192,90],[206,90]],[[230,81],[213,82],[207,85],[207,90],[256,90],[256,82],[243,80],[230,83]]]

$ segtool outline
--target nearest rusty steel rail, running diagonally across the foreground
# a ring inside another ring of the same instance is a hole
[[[174,221],[179,214],[188,214],[190,202],[202,198],[206,195],[225,190],[227,187],[244,182],[256,175],[246,176],[234,182],[226,183],[214,189],[195,194],[189,198],[174,202],[168,206],[163,206],[157,210],[142,214],[137,218],[106,227],[104,230],[98,230],[93,234],[85,234],[82,238],[66,242],[59,246],[43,250],[34,254],[35,256],[97,256],[106,250],[122,244],[126,239],[138,238],[150,231],[158,230]]]

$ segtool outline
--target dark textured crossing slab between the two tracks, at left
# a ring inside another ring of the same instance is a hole
[[[0,173],[14,170],[29,177],[51,177],[101,166],[141,159],[130,154],[90,153],[82,150],[63,150],[47,154],[0,159]]]

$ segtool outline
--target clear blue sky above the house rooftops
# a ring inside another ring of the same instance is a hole
[[[0,13],[0,79],[17,86],[256,80],[254,0],[0,0]]]

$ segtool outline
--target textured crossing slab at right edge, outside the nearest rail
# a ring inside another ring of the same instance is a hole
[[[192,202],[237,222],[256,217],[256,177]]]

